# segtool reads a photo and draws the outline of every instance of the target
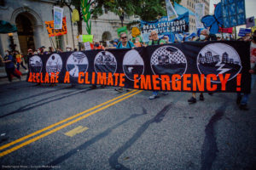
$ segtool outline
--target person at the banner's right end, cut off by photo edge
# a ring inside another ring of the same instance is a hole
[[[251,88],[253,88],[254,83],[256,82],[256,31],[253,32],[251,41],[251,48],[250,48],[250,60],[251,60],[251,69],[249,70],[249,73],[252,74],[252,81],[251,81]],[[241,93],[237,94],[236,98],[236,104],[239,105],[240,110],[242,111],[248,111],[249,108],[247,106],[247,102],[249,99],[249,94],[243,94]]]

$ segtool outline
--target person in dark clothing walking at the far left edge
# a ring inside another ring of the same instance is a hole
[[[11,75],[14,75],[15,77],[17,77],[18,79],[21,80],[20,75],[18,75],[15,72],[15,64],[13,62],[14,57],[11,55],[11,53],[8,50],[5,51],[4,59],[1,55],[0,55],[0,59],[5,64],[5,71],[7,73],[7,77],[9,79],[9,82],[12,82],[12,76]]]

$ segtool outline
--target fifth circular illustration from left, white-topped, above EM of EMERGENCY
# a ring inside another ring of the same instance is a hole
[[[134,81],[135,74],[140,76],[144,73],[144,61],[137,50],[131,49],[125,54],[123,70],[125,72],[125,76],[131,81]]]

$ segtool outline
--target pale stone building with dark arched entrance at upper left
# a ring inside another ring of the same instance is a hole
[[[2,0],[0,4],[0,20],[6,20],[17,26],[18,31],[13,35],[0,34],[0,54],[10,49],[11,38],[16,45],[16,50],[22,54],[27,53],[28,48],[37,49],[42,46],[65,48],[79,48],[78,26],[71,21],[69,8],[64,7],[63,17],[67,20],[67,35],[50,37],[45,28],[44,21],[53,19],[53,8],[57,0]],[[124,25],[133,18],[125,16]],[[96,20],[91,20],[91,34],[95,41],[110,41],[118,38],[117,28],[121,26],[119,16],[105,11]],[[83,34],[87,34],[83,21]],[[11,36],[11,37],[10,37]]]

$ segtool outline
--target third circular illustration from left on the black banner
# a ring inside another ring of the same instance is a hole
[[[67,59],[67,71],[72,77],[79,77],[79,72],[85,73],[88,66],[88,59],[82,52],[74,52]]]

